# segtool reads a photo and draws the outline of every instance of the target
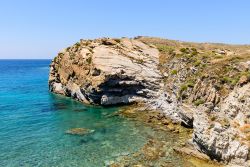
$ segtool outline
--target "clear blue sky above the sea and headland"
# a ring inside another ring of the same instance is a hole
[[[138,35],[250,44],[250,1],[0,1],[0,59],[53,58],[81,38]]]

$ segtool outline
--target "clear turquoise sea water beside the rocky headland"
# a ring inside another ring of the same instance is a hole
[[[0,166],[98,167],[138,151],[155,131],[48,92],[50,60],[0,61]],[[84,136],[71,128],[94,130]]]

